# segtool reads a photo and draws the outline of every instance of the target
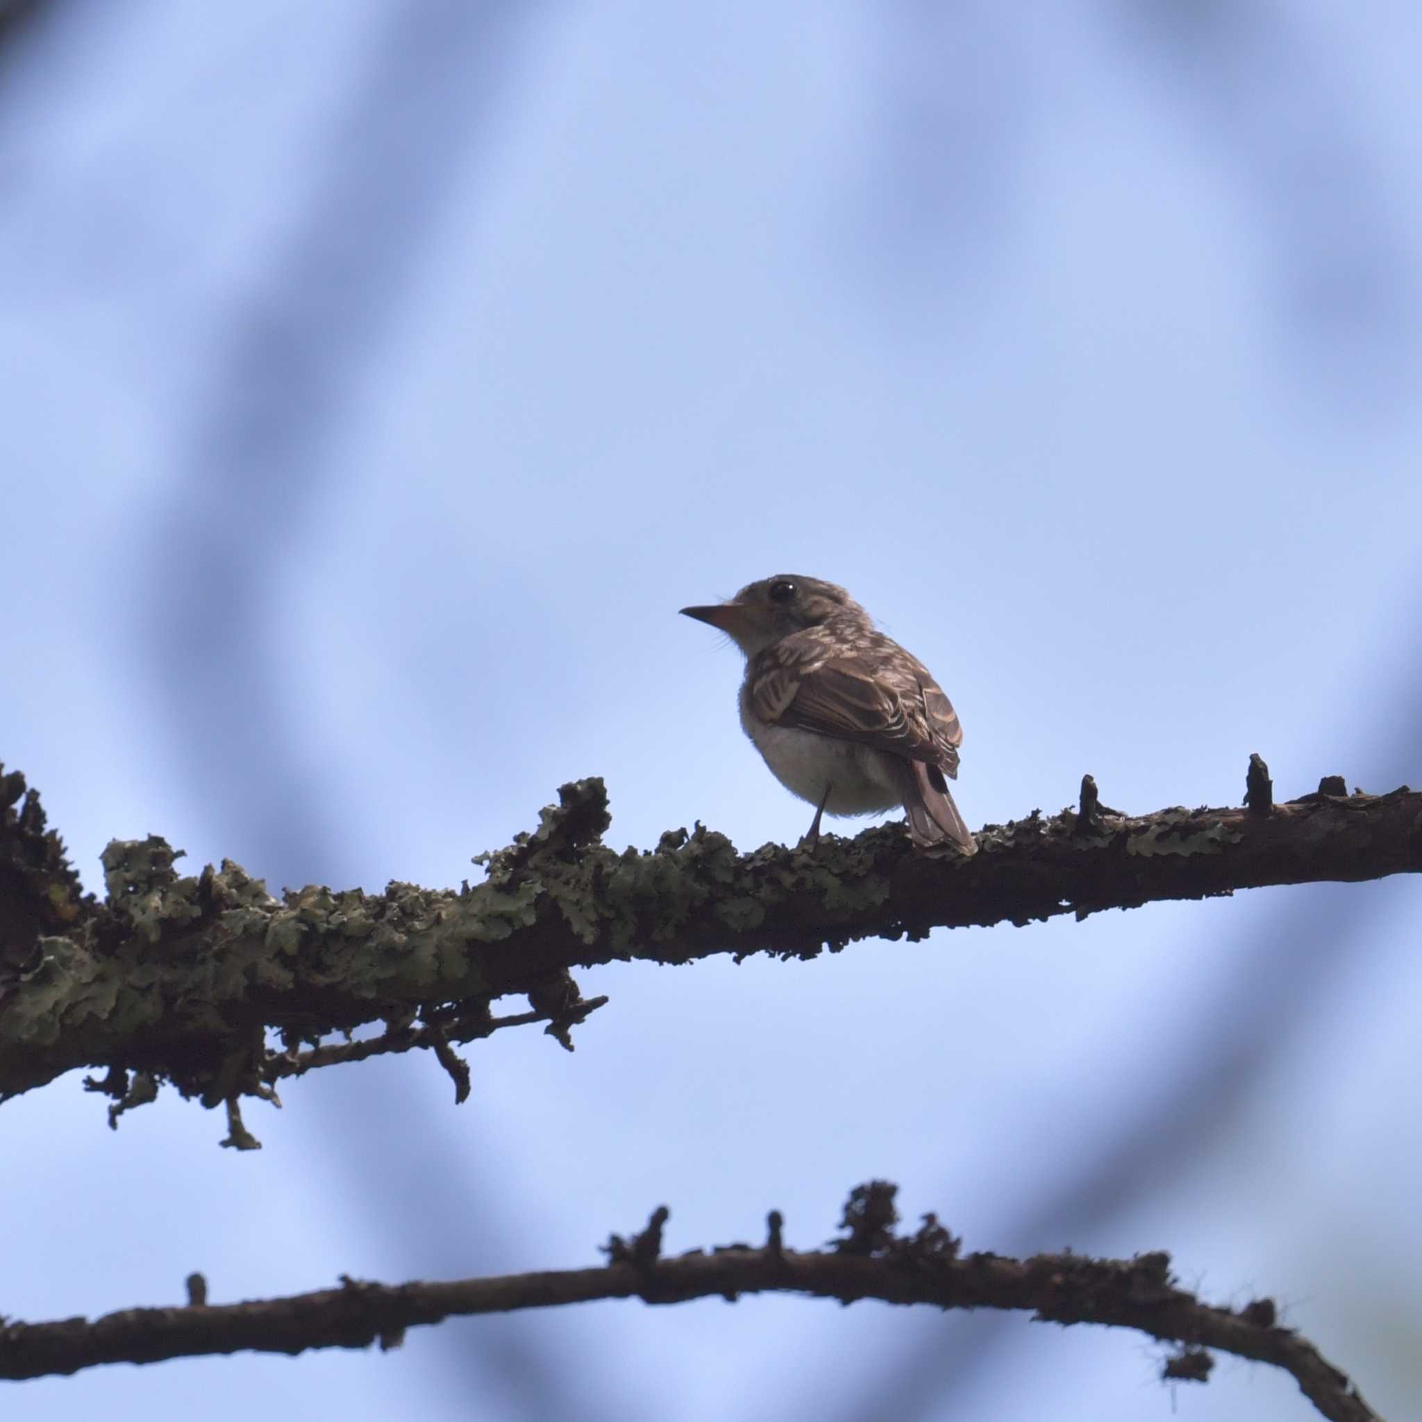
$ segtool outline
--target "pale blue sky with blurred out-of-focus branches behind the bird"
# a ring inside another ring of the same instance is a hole
[[[1419,30],[53,0],[0,70],[0,755],[90,884],[148,832],[273,887],[455,884],[589,774],[616,845],[793,839],[738,656],[675,616],[792,570],[933,668],[973,825],[1086,771],[1128,811],[1237,802],[1251,751],[1281,796],[1418,784]],[[887,1176],[970,1249],[1271,1293],[1404,1415],[1418,893],[603,968],[576,1055],[476,1044],[458,1109],[429,1061],[319,1074],[246,1156],[171,1096],[111,1135],[70,1078],[0,1115],[4,1308],[586,1264],[663,1202],[673,1250],[771,1207],[809,1247]],[[1069,1422],[1170,1415],[1158,1362],[759,1300],[17,1398]],[[1175,1405],[1307,1415],[1243,1364]]]

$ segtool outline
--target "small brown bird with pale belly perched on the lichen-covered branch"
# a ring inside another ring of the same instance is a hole
[[[681,611],[745,653],[741,725],[775,778],[816,806],[811,842],[825,813],[903,805],[914,845],[977,853],[947,785],[963,744],[953,704],[843,587],[778,573]]]

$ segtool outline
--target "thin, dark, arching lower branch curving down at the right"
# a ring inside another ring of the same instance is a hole
[[[247,1349],[297,1354],[374,1342],[391,1348],[408,1328],[454,1315],[603,1298],[680,1304],[720,1295],[734,1303],[741,1294],[792,1293],[846,1304],[877,1298],[944,1310],[1011,1308],[1039,1322],[1135,1328],[1176,1345],[1162,1365],[1165,1379],[1204,1382],[1213,1368],[1210,1349],[1230,1352],[1290,1372],[1334,1422],[1378,1422],[1345,1374],[1278,1324],[1268,1298],[1241,1308],[1204,1304],[1176,1284],[1165,1253],[1132,1260],[964,1256],[961,1241],[931,1214],[916,1233],[896,1234],[894,1193],[883,1180],[855,1189],[845,1206],[843,1236],[809,1253],[785,1249],[784,1221],[772,1210],[762,1246],[728,1244],[668,1258],[661,1253],[668,1219],[663,1206],[640,1234],[614,1234],[604,1246],[607,1264],[599,1268],[394,1287],[343,1278],[340,1288],[240,1304],[209,1304],[206,1281],[193,1274],[186,1307],[125,1308],[92,1322],[0,1322],[0,1378]]]

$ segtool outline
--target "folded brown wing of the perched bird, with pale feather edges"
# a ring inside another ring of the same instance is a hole
[[[762,654],[751,677],[751,705],[774,725],[857,741],[957,778],[963,727],[953,702],[927,668],[896,651],[884,658],[791,661]]]

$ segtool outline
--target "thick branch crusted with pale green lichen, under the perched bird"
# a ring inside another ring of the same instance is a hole
[[[1348,795],[1335,778],[1274,803],[1267,784],[1260,761],[1249,808],[1129,816],[1088,778],[1078,806],[988,825],[981,852],[961,859],[916,852],[899,825],[745,855],[698,825],[619,852],[602,838],[602,781],[586,779],[562,788],[535,832],[481,856],[483,882],[456,890],[273,897],[230,860],[181,876],[178,852],[149,838],[108,846],[97,900],[23,776],[0,775],[0,1095],[100,1066],[108,1075],[92,1085],[115,1111],[159,1081],[218,1105],[414,1047],[458,1088],[451,1042],[536,1020],[572,1047],[596,1004],[570,971],[602,963],[812,957],[856,939],[1422,867],[1422,793]],[[529,994],[533,1012],[492,1018],[508,993]],[[323,1041],[364,1024],[384,1024],[377,1045]]]

